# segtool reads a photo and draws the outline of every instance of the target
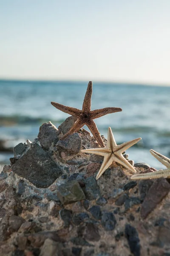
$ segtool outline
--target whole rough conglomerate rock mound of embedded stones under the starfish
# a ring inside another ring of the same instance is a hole
[[[0,174],[0,256],[170,256],[169,180],[132,181],[116,164],[96,180],[102,157],[80,151],[94,138],[60,140],[75,121],[14,148]]]

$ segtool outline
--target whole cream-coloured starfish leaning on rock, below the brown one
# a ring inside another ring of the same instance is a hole
[[[113,162],[120,163],[122,166],[125,166],[131,172],[136,173],[134,167],[125,159],[122,153],[127,149],[130,148],[132,145],[137,143],[141,138],[137,138],[134,140],[130,140],[128,142],[122,143],[121,145],[117,145],[116,141],[113,137],[113,133],[111,127],[108,128],[108,142],[104,148],[90,148],[90,149],[83,149],[82,152],[91,153],[91,154],[98,154],[104,157],[102,166],[99,169],[99,172],[96,176],[96,180],[105,172],[106,169],[111,165]]]

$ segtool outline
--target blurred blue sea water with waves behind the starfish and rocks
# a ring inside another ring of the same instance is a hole
[[[9,163],[13,146],[34,140],[43,122],[58,127],[69,116],[51,101],[82,109],[87,85],[88,81],[1,80],[0,165]],[[95,119],[100,134],[107,138],[110,126],[117,144],[142,137],[127,149],[129,159],[164,169],[149,150],[170,157],[170,87],[94,82],[91,109],[106,107],[122,112]]]

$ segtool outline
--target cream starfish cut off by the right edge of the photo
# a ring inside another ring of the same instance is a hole
[[[147,172],[147,173],[139,173],[131,176],[132,180],[148,180],[148,179],[158,179],[161,177],[170,178],[170,158],[165,157],[164,155],[150,149],[150,153],[156,157],[159,162],[161,162],[167,169],[158,170],[156,172]]]

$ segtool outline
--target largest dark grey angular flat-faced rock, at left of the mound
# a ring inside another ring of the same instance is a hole
[[[57,165],[37,143],[33,144],[11,169],[38,188],[47,188],[62,175],[59,164]]]

